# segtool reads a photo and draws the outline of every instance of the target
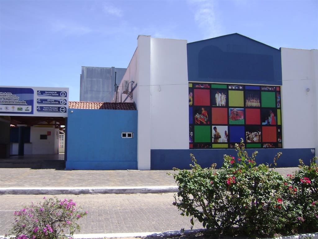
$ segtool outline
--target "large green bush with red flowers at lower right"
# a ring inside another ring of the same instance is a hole
[[[192,225],[195,218],[228,234],[273,236],[317,228],[317,164],[301,164],[295,175],[284,178],[268,165],[256,166],[258,152],[248,156],[243,140],[235,149],[238,157],[224,155],[218,170],[216,164],[201,168],[192,154],[190,171],[174,168],[179,192],[173,204],[181,215],[191,216]]]

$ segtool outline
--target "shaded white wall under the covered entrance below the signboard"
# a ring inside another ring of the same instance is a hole
[[[40,134],[47,134],[46,140],[40,140]],[[59,153],[59,129],[50,127],[31,127],[30,142],[32,154],[58,154]]]

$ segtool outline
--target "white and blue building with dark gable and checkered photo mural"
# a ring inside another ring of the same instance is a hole
[[[190,153],[204,167],[221,166],[240,138],[259,152],[258,163],[278,152],[279,167],[308,163],[318,149],[317,52],[237,33],[188,44],[139,36],[123,76],[129,91],[120,92],[138,111],[138,169],[188,168]]]

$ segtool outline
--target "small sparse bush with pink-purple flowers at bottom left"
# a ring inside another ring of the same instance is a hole
[[[36,205],[32,203],[14,212],[15,223],[10,234],[15,239],[70,238],[80,229],[75,221],[87,214],[80,209],[72,199],[54,197]]]

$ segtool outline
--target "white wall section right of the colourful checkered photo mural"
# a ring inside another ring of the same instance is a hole
[[[281,57],[283,147],[315,148],[317,155],[318,50],[281,48]]]

